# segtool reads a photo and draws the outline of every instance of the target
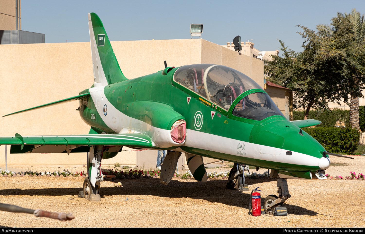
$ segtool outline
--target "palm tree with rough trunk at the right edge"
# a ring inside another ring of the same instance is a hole
[[[365,73],[365,20],[364,15],[352,9],[350,14],[337,12],[330,25],[319,24],[320,35],[331,42],[333,50],[341,51],[342,62],[346,64],[343,76],[352,79],[354,89],[350,94],[350,124],[352,128],[360,129],[359,97],[364,88]],[[356,90],[357,88],[357,90]],[[345,98],[348,102],[348,98]]]

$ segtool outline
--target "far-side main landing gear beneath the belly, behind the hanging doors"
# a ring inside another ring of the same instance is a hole
[[[243,164],[234,163],[228,176],[226,188],[238,191],[248,191],[249,187],[245,184],[245,175],[243,175],[243,171],[248,171],[248,168],[248,166]]]

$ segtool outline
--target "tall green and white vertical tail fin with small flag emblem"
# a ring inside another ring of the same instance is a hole
[[[110,85],[128,80],[120,70],[119,63],[99,16],[95,13],[89,13],[88,17],[94,82]]]

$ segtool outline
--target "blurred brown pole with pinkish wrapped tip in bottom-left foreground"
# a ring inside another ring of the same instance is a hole
[[[34,214],[37,217],[47,217],[47,218],[52,218],[52,219],[59,219],[61,221],[67,221],[67,220],[71,220],[74,219],[75,217],[72,215],[72,213],[58,213],[58,212],[49,212],[49,211],[45,211],[45,210],[31,210],[31,209],[27,209],[27,208],[23,208],[20,206],[15,206],[15,205],[11,205],[11,204],[5,204],[5,203],[0,203],[0,210],[3,211],[8,211],[8,212],[16,212],[16,213],[27,213],[27,214]]]

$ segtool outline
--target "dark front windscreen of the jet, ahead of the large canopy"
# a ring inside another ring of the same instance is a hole
[[[266,93],[251,93],[242,98],[233,109],[234,116],[263,120],[270,116],[284,116]]]

